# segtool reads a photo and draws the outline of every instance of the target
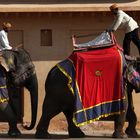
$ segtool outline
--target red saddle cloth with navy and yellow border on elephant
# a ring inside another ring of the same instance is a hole
[[[69,79],[75,96],[73,121],[77,126],[124,110],[122,52],[108,48],[73,52],[58,68]]]

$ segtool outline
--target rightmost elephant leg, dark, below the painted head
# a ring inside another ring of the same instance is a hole
[[[135,138],[138,136],[138,133],[136,131],[137,116],[134,111],[132,92],[133,92],[133,86],[131,84],[128,84],[128,87],[127,87],[128,111],[126,114],[128,127],[126,128],[125,132],[128,135],[128,137]]]

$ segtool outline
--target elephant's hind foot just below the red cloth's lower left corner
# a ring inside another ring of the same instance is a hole
[[[79,127],[68,127],[70,138],[83,138],[85,134],[81,131]]]

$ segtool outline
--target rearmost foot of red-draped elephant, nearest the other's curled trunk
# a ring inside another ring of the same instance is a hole
[[[36,133],[35,133],[35,137],[38,138],[38,139],[51,139],[51,135],[46,132],[44,129],[41,129],[41,130],[37,130]]]

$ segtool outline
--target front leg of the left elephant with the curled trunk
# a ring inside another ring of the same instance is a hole
[[[6,119],[9,123],[8,135],[12,136],[12,137],[20,136],[21,132],[17,128],[17,118],[16,118],[11,106],[9,105],[9,103],[8,102],[1,103],[0,109],[6,116]]]

